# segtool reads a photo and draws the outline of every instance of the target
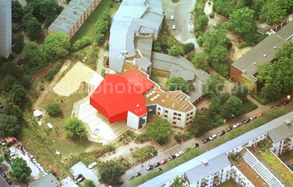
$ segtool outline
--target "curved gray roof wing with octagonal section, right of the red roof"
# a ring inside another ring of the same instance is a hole
[[[193,71],[195,73],[195,80],[193,81],[195,91],[188,94],[190,96],[190,102],[193,103],[196,99],[202,96],[201,85],[209,78],[207,72],[195,69],[193,64],[182,56],[170,56],[167,54],[152,52],[151,62],[152,68],[171,72],[169,78],[180,77],[180,72],[182,70]]]

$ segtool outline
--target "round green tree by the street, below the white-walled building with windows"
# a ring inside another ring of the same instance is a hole
[[[169,136],[174,134],[172,125],[166,119],[156,116],[147,124],[147,135],[159,143],[167,143]]]

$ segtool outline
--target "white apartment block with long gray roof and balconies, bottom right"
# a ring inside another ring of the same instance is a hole
[[[176,177],[180,178],[183,186],[188,185],[190,187],[218,186],[229,179],[233,179],[241,186],[256,186],[249,176],[243,174],[243,170],[241,171],[238,165],[231,165],[228,159],[231,152],[242,157],[245,164],[250,167],[251,172],[255,172],[266,185],[285,187],[288,186],[286,181],[275,175],[275,171],[272,171],[272,168],[266,167],[263,159],[258,159],[251,149],[258,142],[268,140],[272,142],[272,147],[269,151],[275,155],[276,159],[279,159],[277,155],[283,152],[284,147],[287,151],[293,148],[291,145],[292,137],[293,111],[209,150],[141,184],[139,187],[169,187]],[[279,150],[280,148],[281,150]],[[289,168],[287,169],[293,174]],[[263,183],[261,184],[263,185]]]

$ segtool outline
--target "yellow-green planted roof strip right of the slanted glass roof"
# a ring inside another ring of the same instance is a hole
[[[265,159],[270,166],[277,171],[277,173],[290,185],[293,186],[293,174],[292,172],[285,167],[283,163],[270,151],[260,153],[260,156]]]

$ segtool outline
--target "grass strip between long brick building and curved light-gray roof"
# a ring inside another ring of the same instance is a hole
[[[110,2],[111,0],[103,0],[100,2],[100,4],[93,11],[91,16],[88,17],[86,22],[81,26],[78,32],[76,32],[74,37],[72,37],[72,39],[70,40],[71,44],[73,44],[76,40],[79,40],[84,36],[88,36],[93,40],[96,38],[97,34],[94,25],[102,12],[108,12],[110,10]]]

